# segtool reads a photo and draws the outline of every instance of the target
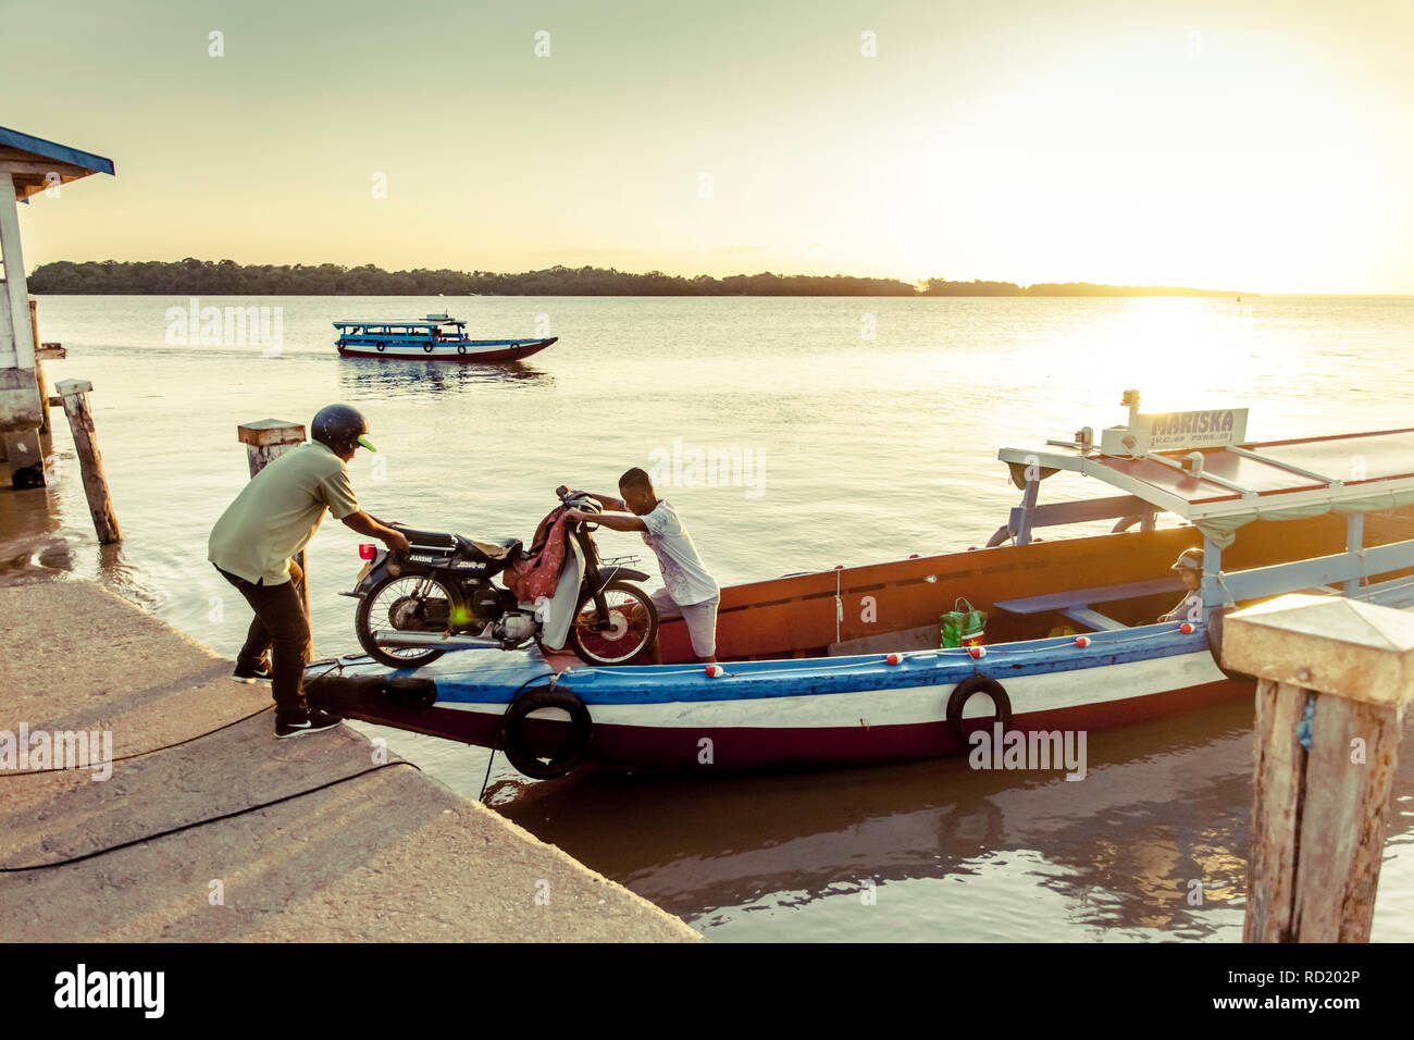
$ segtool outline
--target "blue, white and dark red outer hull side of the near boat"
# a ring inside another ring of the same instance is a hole
[[[1086,647],[1070,637],[998,645],[980,659],[940,649],[732,662],[717,678],[700,665],[556,671],[536,651],[450,654],[416,674],[390,672],[362,657],[311,665],[311,678],[324,674],[334,682],[324,691],[314,683],[310,698],[331,710],[485,747],[496,744],[516,696],[553,683],[588,710],[587,761],[669,773],[967,751],[967,734],[991,730],[998,717],[987,695],[969,698],[950,717],[954,691],[973,676],[1001,683],[1008,732],[1104,729],[1251,695],[1250,682],[1219,671],[1202,627],[1184,634],[1171,624],[1100,634]],[[352,686],[339,682],[352,676],[416,676],[434,686],[434,699],[427,707],[378,695],[352,703],[337,692]],[[568,726],[556,709],[527,722],[546,746]]]

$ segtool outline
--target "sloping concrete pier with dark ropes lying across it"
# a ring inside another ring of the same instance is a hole
[[[0,754],[24,727],[113,757],[0,764],[3,942],[700,938],[348,726],[276,741],[267,685],[102,586],[0,617]]]

